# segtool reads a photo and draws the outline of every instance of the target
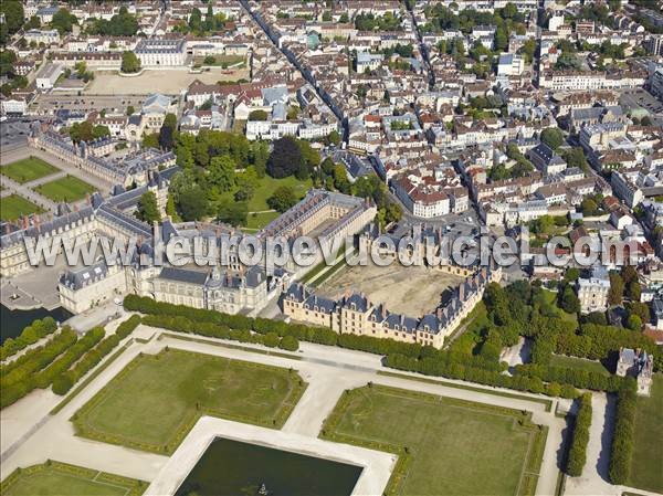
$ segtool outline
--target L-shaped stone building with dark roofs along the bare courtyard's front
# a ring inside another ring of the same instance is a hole
[[[391,313],[385,305],[373,304],[359,293],[336,300],[323,298],[299,283],[293,283],[284,293],[282,306],[283,313],[293,320],[328,327],[336,333],[390,338],[440,349],[444,339],[481,302],[486,286],[501,278],[501,267],[482,268],[461,283],[449,303],[420,318]]]

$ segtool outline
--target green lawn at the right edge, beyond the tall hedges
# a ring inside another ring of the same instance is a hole
[[[629,486],[663,493],[663,376],[654,376],[651,395],[638,397]]]

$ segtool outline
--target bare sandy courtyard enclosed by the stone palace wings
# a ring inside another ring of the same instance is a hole
[[[417,317],[432,312],[442,300],[442,294],[453,291],[462,276],[398,263],[380,267],[369,262],[366,266],[345,267],[325,281],[316,293],[338,297],[346,292],[366,293],[373,304],[383,303],[390,312]]]

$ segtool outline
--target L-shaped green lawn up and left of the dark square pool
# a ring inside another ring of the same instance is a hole
[[[295,371],[164,350],[137,357],[72,421],[85,437],[172,453],[203,414],[281,428],[305,387]]]

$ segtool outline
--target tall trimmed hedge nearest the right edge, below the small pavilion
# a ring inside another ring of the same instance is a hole
[[[628,378],[617,395],[617,414],[608,472],[612,484],[625,484],[631,475],[636,408],[635,391],[635,379]]]

